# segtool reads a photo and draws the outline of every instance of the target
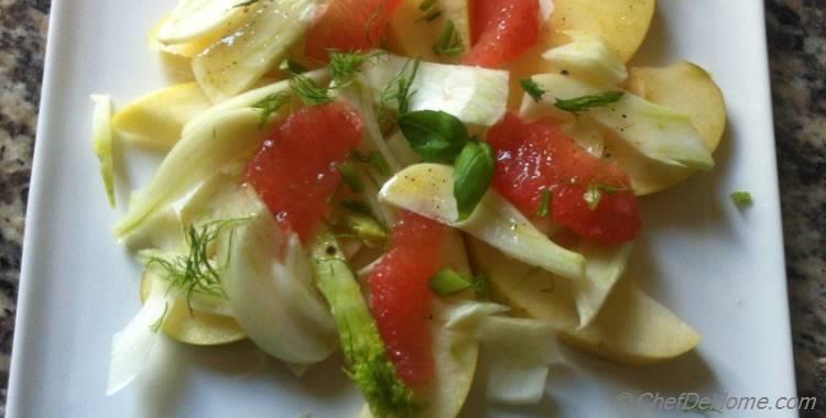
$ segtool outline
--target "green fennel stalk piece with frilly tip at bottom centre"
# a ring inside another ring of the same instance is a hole
[[[350,265],[335,237],[322,231],[312,244],[315,283],[333,312],[350,377],[377,417],[412,417],[413,392],[390,362]]]

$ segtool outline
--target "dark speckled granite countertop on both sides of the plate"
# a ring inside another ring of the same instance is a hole
[[[826,2],[765,3],[797,386],[801,396],[817,396],[824,403]],[[0,414],[6,404],[50,4],[50,0],[0,0]],[[818,411],[809,416],[819,416]]]

